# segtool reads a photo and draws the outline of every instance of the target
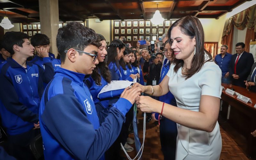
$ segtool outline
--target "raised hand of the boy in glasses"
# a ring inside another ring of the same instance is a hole
[[[132,104],[135,103],[135,98],[140,96],[141,88],[140,87],[127,87],[124,89],[124,92],[121,94],[121,98],[129,100]]]

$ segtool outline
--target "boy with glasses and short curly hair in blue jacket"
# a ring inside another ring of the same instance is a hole
[[[98,34],[79,22],[58,30],[61,67],[47,85],[39,110],[45,159],[104,159],[125,114],[140,95],[138,87],[125,89],[100,125],[92,95],[83,82],[99,63],[98,47]]]

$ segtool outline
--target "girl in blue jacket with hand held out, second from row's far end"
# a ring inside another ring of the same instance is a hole
[[[124,56],[119,61],[120,72],[122,75],[122,80],[133,81],[137,76],[132,74],[132,65],[130,64],[132,58],[132,50],[128,47],[125,47]]]

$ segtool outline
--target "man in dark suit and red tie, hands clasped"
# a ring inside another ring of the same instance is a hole
[[[231,57],[229,75],[233,85],[245,88],[244,81],[250,74],[254,60],[252,53],[244,51],[244,46],[243,42],[236,44],[236,54]]]

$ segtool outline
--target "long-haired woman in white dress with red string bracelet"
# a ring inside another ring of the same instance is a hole
[[[143,112],[157,112],[177,123],[176,160],[219,159],[221,70],[204,49],[202,24],[194,16],[183,17],[172,24],[168,38],[176,59],[163,81],[155,86],[133,86],[153,96],[170,90],[178,107],[149,96],[137,97],[136,104]]]

